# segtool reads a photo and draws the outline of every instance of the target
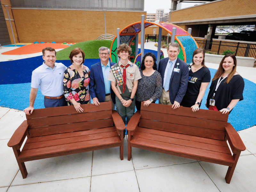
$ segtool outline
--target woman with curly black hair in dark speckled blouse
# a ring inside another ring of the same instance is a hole
[[[156,57],[148,52],[144,55],[140,65],[141,79],[138,81],[135,105],[140,110],[141,101],[148,107],[150,103],[155,103],[162,95],[162,77],[157,72]]]

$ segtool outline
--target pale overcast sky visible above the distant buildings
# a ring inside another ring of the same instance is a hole
[[[164,9],[164,12],[169,12],[171,9],[171,0],[144,0],[144,11],[148,13],[156,13],[156,9]],[[200,3],[182,3],[181,8],[192,7]]]

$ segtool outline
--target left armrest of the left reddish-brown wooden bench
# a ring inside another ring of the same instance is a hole
[[[16,129],[13,133],[11,139],[7,143],[8,147],[17,146],[17,149],[20,149],[23,141],[25,140],[28,132],[27,120],[23,121],[22,124]]]

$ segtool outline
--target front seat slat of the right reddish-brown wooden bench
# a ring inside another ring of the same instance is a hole
[[[196,159],[199,161],[223,164],[227,166],[232,166],[232,164],[235,162],[231,155],[225,153],[219,153],[204,149],[195,149],[171,143],[164,143],[163,145],[163,142],[160,141],[147,140],[137,137],[132,138],[131,146],[161,153],[167,153],[170,155]]]

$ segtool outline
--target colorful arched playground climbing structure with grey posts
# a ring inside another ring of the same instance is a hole
[[[159,23],[154,23],[145,20],[145,15],[141,15],[141,21],[132,23],[119,32],[117,28],[117,35],[112,41],[111,44],[111,55],[110,59],[112,62],[118,62],[119,58],[116,54],[116,49],[120,44],[128,44],[132,48],[132,54],[130,56],[131,62],[136,63],[140,66],[140,62],[144,56],[144,29],[156,25],[159,27],[158,37],[162,36],[162,29],[171,34],[171,42],[177,42],[180,44],[180,54],[178,57],[181,60],[184,60],[187,64],[192,62],[192,54],[198,45],[195,39],[190,35],[191,29],[185,31],[184,29],[178,27],[177,25],[171,23],[165,23],[162,21],[163,18],[160,18]],[[141,53],[138,54],[138,34],[141,32]],[[143,43],[142,43],[143,42]],[[158,38],[158,51],[157,51],[157,63],[159,62],[161,56],[163,57],[163,52],[161,54],[161,38]],[[138,57],[138,58],[136,58]]]

